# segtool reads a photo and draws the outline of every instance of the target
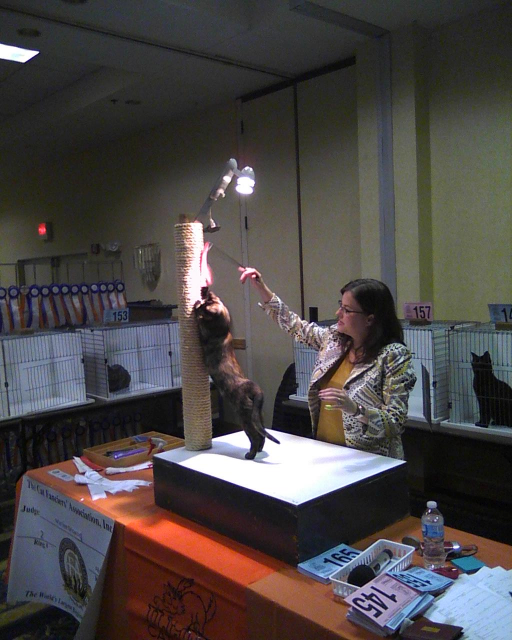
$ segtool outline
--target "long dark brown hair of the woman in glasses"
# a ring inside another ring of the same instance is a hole
[[[374,316],[374,321],[360,356],[362,362],[373,360],[382,347],[392,342],[404,344],[404,331],[396,315],[395,301],[391,291],[380,280],[359,278],[351,280],[342,289],[341,295],[350,291],[361,306],[362,311]]]

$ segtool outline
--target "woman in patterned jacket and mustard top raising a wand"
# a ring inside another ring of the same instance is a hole
[[[259,271],[240,271],[281,329],[319,352],[308,393],[313,437],[403,460],[401,435],[416,376],[388,287],[352,280],[341,290],[337,324],[321,327],[290,311]]]

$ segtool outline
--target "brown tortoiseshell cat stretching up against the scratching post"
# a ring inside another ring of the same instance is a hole
[[[253,460],[263,450],[266,437],[280,444],[263,426],[263,391],[244,376],[238,364],[230,331],[231,318],[222,300],[209,291],[203,300],[196,302],[194,313],[208,373],[240,418],[251,443],[245,457]]]

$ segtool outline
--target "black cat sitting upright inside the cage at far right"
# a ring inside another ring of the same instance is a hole
[[[480,407],[480,427],[492,424],[512,427],[512,388],[493,373],[491,354],[471,352],[473,389]]]

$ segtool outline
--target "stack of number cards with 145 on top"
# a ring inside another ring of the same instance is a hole
[[[381,573],[345,598],[347,619],[379,636],[393,635],[406,618],[426,611],[434,600],[404,584],[394,574]]]

